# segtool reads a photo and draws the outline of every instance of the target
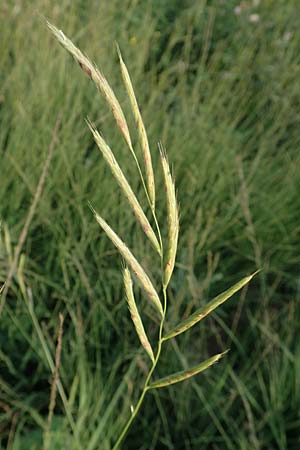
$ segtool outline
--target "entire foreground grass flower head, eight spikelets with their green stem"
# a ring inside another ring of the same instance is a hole
[[[62,31],[59,31],[57,28],[55,28],[53,25],[48,23],[48,26],[54,36],[58,39],[58,41],[64,46],[66,50],[71,53],[71,55],[75,58],[75,60],[79,63],[80,67],[88,74],[88,76],[96,83],[99,90],[103,93],[107,103],[109,104],[113,115],[116,119],[117,125],[120,128],[125,141],[127,142],[131,152],[133,153],[134,159],[138,161],[137,155],[135,154],[133,150],[133,146],[131,143],[130,133],[128,130],[128,125],[125,119],[125,116],[122,112],[122,109],[120,107],[120,104],[113,93],[112,89],[110,88],[109,84],[107,83],[106,79],[100,74],[99,70],[95,68],[95,66],[89,61],[89,59],[83,55],[83,53],[70,41],[63,33]],[[88,123],[90,130],[92,131],[92,134],[94,136],[94,139],[96,141],[96,144],[98,145],[99,149],[101,150],[104,158],[106,159],[107,163],[109,164],[117,182],[119,183],[121,189],[126,195],[126,198],[129,202],[129,205],[135,212],[135,216],[137,219],[137,222],[141,224],[146,236],[150,239],[152,244],[154,244],[154,247],[158,250],[158,253],[160,255],[160,261],[157,262],[158,266],[161,267],[161,288],[158,289],[155,287],[155,284],[150,280],[150,277],[148,274],[146,274],[145,269],[143,268],[143,263],[139,262],[131,250],[127,247],[126,243],[118,236],[118,234],[112,230],[112,228],[108,225],[108,223],[93,209],[95,218],[101,228],[105,231],[108,238],[112,241],[112,243],[115,245],[115,247],[118,249],[121,256],[125,259],[128,267],[125,267],[124,269],[124,284],[125,284],[125,292],[127,296],[127,301],[132,317],[132,321],[134,324],[134,327],[136,329],[136,332],[138,334],[138,337],[140,339],[140,342],[142,343],[145,351],[147,352],[148,356],[150,357],[150,360],[152,362],[152,365],[148,371],[148,374],[146,376],[146,380],[144,382],[144,385],[141,389],[141,394],[139,396],[139,399],[136,403],[136,405],[133,407],[132,414],[127,420],[127,422],[124,425],[124,428],[122,432],[120,433],[119,437],[116,439],[115,445],[113,447],[113,450],[117,450],[120,448],[126,433],[128,432],[130,426],[132,425],[134,419],[136,418],[141,405],[143,403],[143,400],[145,398],[145,395],[148,391],[153,389],[158,389],[165,386],[170,386],[172,384],[178,383],[180,381],[183,381],[187,378],[190,378],[204,370],[206,370],[208,367],[210,367],[212,364],[219,361],[219,359],[224,355],[223,353],[217,354],[212,356],[211,358],[207,359],[206,361],[201,362],[195,367],[192,367],[190,369],[185,369],[181,372],[176,372],[170,375],[167,375],[161,379],[154,380],[152,377],[154,376],[154,372],[156,369],[156,366],[158,364],[158,361],[161,356],[161,351],[163,347],[163,343],[176,336],[177,334],[183,333],[189,328],[191,328],[193,325],[195,325],[199,320],[207,316],[211,311],[213,311],[217,306],[224,303],[226,300],[228,300],[234,293],[236,293],[238,290],[240,290],[243,286],[245,286],[254,275],[250,275],[249,277],[244,278],[239,283],[234,285],[232,288],[228,289],[223,294],[220,294],[217,298],[212,300],[206,307],[201,308],[200,310],[196,311],[194,314],[192,314],[189,318],[181,322],[179,325],[177,325],[173,330],[169,331],[165,334],[164,332],[164,325],[165,325],[165,319],[166,319],[166,313],[167,313],[167,307],[168,307],[168,297],[167,297],[167,287],[169,285],[169,282],[171,280],[173,270],[175,267],[175,260],[176,260],[176,254],[177,254],[177,242],[178,242],[178,234],[179,234],[179,213],[178,213],[178,206],[177,206],[177,200],[176,200],[176,191],[175,191],[175,184],[174,180],[171,176],[171,171],[168,163],[168,159],[166,156],[165,150],[163,150],[163,147],[160,146],[160,154],[161,154],[161,163],[162,163],[162,171],[163,171],[163,177],[165,182],[165,192],[166,192],[166,204],[167,204],[167,214],[168,214],[168,238],[166,245],[163,245],[162,239],[161,239],[161,229],[160,226],[156,220],[156,216],[154,213],[154,207],[155,207],[155,184],[154,184],[154,175],[153,175],[153,169],[152,169],[152,163],[151,163],[151,154],[149,149],[149,144],[147,140],[147,135],[144,127],[144,123],[142,121],[142,117],[137,105],[136,97],[134,94],[134,90],[130,81],[128,70],[125,66],[125,63],[122,59],[121,52],[118,49],[119,59],[120,59],[120,65],[121,65],[121,72],[123,75],[123,79],[126,85],[127,93],[129,96],[129,101],[131,104],[131,108],[133,111],[133,115],[135,117],[135,122],[137,126],[137,131],[140,135],[140,140],[144,152],[144,163],[145,163],[145,172],[147,175],[146,181],[144,180],[142,171],[140,170],[139,164],[137,162],[139,175],[141,176],[142,184],[145,188],[145,191],[147,193],[149,206],[152,210],[152,215],[155,220],[156,225],[156,231],[157,236],[155,236],[154,231],[149,224],[148,220],[146,219],[146,215],[142,209],[142,206],[139,204],[133,189],[131,188],[129,182],[127,181],[123,171],[121,170],[119,164],[117,163],[117,160],[110,149],[110,147],[107,145],[103,137],[98,133],[98,131],[91,125],[91,123]],[[152,345],[150,343],[150,340],[147,336],[147,331],[144,328],[141,314],[137,308],[135,299],[134,299],[134,285],[131,279],[130,270],[134,274],[135,278],[139,282],[139,284],[142,286],[145,294],[149,298],[149,300],[153,303],[156,310],[160,313],[160,323],[158,326],[158,336],[156,341],[156,351],[153,352]],[[158,284],[158,283],[157,283]],[[162,292],[162,296],[159,295],[159,293]],[[100,443],[99,443],[100,444]]]

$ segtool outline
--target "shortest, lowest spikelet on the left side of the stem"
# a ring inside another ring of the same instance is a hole
[[[137,335],[139,337],[139,340],[141,341],[142,346],[148,353],[149,358],[151,359],[152,362],[154,362],[153,350],[152,350],[151,344],[149,342],[149,339],[147,338],[141,316],[138,312],[138,309],[137,309],[137,306],[135,303],[133,287],[132,287],[132,278],[131,278],[128,267],[124,268],[123,279],[124,279],[124,286],[125,286],[128,308],[129,308],[130,315],[131,315],[133,324],[135,326]]]

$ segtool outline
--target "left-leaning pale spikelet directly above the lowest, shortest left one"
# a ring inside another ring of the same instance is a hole
[[[119,238],[119,236],[113,231],[113,229],[107,224],[107,222],[102,219],[99,214],[91,207],[95,218],[101,228],[105,231],[109,239],[112,241],[112,243],[117,247],[125,261],[127,262],[128,266],[131,268],[133,273],[135,274],[137,280],[139,281],[140,285],[146,292],[149,300],[153,303],[155,308],[160,312],[161,316],[163,317],[163,309],[162,305],[159,299],[159,296],[150,281],[150,278],[146,274],[145,270],[142,268],[140,263],[136,260],[136,258],[133,256],[129,248],[124,244],[124,242]]]

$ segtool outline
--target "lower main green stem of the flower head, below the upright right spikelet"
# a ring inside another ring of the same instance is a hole
[[[130,426],[132,425],[134,419],[136,418],[136,415],[139,412],[140,407],[142,406],[142,403],[144,401],[146,392],[149,389],[149,382],[150,382],[150,379],[152,377],[152,374],[153,374],[153,372],[154,372],[154,370],[155,370],[155,368],[157,366],[157,363],[158,363],[158,360],[159,360],[159,357],[160,357],[160,354],[161,354],[162,343],[163,343],[163,326],[164,326],[166,310],[167,310],[167,291],[166,291],[166,287],[165,286],[163,287],[163,297],[164,297],[164,308],[163,308],[164,313],[163,313],[163,317],[162,317],[162,320],[161,320],[161,323],[160,323],[160,327],[159,327],[159,338],[158,338],[157,353],[156,353],[155,359],[153,361],[152,367],[151,367],[151,369],[150,369],[150,371],[149,371],[149,373],[147,375],[147,378],[146,378],[146,381],[145,381],[142,393],[140,395],[140,398],[138,399],[136,407],[134,408],[133,413],[131,414],[131,417],[128,419],[127,423],[125,424],[125,426],[124,426],[124,428],[123,428],[123,430],[122,430],[122,432],[121,432],[117,442],[115,443],[114,447],[112,448],[112,450],[117,450],[119,448],[119,446],[122,443],[125,435],[127,434],[127,431],[129,430]]]

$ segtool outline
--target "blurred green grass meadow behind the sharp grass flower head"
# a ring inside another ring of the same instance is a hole
[[[38,13],[97,63],[128,112],[118,41],[157,171],[157,141],[167,148],[181,210],[169,323],[188,315],[190,304],[199,306],[263,269],[213,318],[168,344],[164,374],[231,351],[192,382],[149,395],[124,448],[298,450],[298,0],[2,0],[1,284],[58,115],[61,126],[22,270],[0,320],[0,448],[42,447],[51,373],[33,317],[54,355],[58,314],[65,316],[60,375],[80,446],[57,398],[51,450],[109,450],[145,373],[119,257],[87,202],[109,218],[148,268],[153,255],[93,143],[87,115],[141,201],[143,193],[104,101]],[[157,183],[163,223],[159,176]],[[24,300],[22,282],[33,307]],[[149,326],[151,336],[155,327]]]

